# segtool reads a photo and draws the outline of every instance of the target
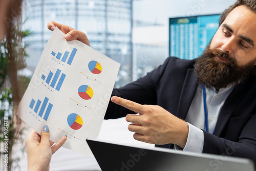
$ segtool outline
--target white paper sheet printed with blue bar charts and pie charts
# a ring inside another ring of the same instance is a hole
[[[42,52],[17,115],[39,134],[91,156],[86,138],[97,138],[120,64],[78,40],[67,41],[57,27]]]

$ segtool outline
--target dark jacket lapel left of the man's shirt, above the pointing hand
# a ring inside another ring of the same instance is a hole
[[[193,100],[196,90],[197,90],[197,78],[195,75],[195,69],[188,69],[185,81],[183,83],[178,110],[177,110],[177,116],[179,118],[181,119],[186,118],[189,106],[191,104],[191,101]]]

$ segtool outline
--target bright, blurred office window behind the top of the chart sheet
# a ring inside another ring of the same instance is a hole
[[[51,35],[47,24],[54,20],[85,32],[92,48],[121,63],[121,73],[130,76],[119,74],[116,87],[132,81],[132,0],[26,0],[23,15],[24,28],[33,31],[25,39],[30,70],[34,71]]]

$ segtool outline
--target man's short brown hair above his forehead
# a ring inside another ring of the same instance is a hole
[[[234,5],[230,6],[228,9],[226,9],[220,17],[219,24],[222,25],[224,20],[226,19],[227,15],[234,9],[239,6],[246,6],[249,8],[252,12],[256,13],[256,1],[255,0],[238,0]]]

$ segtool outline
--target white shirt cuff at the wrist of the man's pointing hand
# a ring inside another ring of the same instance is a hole
[[[183,151],[202,153],[204,147],[204,132],[198,127],[188,123],[189,131],[187,136],[187,142]],[[175,144],[175,149],[182,149]]]

